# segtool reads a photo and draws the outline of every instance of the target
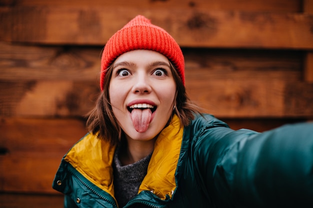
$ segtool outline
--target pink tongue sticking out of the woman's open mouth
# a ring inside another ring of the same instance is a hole
[[[150,109],[133,109],[131,111],[132,125],[137,132],[145,132],[151,120],[151,110]]]

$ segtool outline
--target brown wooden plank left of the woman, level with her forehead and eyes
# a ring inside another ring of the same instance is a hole
[[[1,80],[97,81],[101,47],[52,47],[0,42]]]

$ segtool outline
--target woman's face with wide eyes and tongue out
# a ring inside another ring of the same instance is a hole
[[[132,50],[113,63],[109,97],[128,139],[148,141],[165,127],[175,91],[169,61],[158,52]]]

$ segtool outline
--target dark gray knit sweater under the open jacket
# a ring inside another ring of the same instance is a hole
[[[146,175],[151,155],[130,165],[122,166],[118,159],[119,149],[115,151],[113,166],[114,195],[118,207],[124,207],[137,195],[139,186]]]

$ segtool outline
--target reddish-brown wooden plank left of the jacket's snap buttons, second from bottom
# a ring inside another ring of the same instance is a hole
[[[5,167],[0,173],[1,192],[55,194],[52,181],[61,158],[48,152],[0,156],[0,165]]]

